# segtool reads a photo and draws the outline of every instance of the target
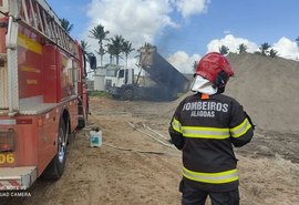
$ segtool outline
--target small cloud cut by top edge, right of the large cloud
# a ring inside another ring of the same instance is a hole
[[[192,14],[206,12],[209,2],[210,0],[177,0],[176,7],[184,18],[188,18]]]

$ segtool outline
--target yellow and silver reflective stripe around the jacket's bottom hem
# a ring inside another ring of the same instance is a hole
[[[239,180],[236,168],[218,173],[200,173],[200,172],[193,172],[183,167],[183,176],[192,181],[209,184],[223,184]]]

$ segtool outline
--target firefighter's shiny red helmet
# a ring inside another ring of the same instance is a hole
[[[198,62],[195,71],[195,74],[204,76],[214,84],[217,84],[217,78],[220,73],[225,73],[225,75],[227,75],[227,80],[229,76],[234,75],[234,71],[231,70],[228,60],[223,54],[217,52],[210,52],[204,55]],[[226,82],[224,82],[223,85],[225,85]]]

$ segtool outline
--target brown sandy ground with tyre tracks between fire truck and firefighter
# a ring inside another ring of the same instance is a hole
[[[167,143],[171,110],[155,102],[91,99],[89,127],[69,145],[66,170],[56,182],[38,180],[28,197],[0,197],[24,205],[178,205],[181,152]],[[167,113],[167,114],[166,114]],[[89,147],[100,126],[103,146]],[[243,205],[299,205],[299,137],[257,131],[236,150]],[[209,202],[207,202],[209,204]]]

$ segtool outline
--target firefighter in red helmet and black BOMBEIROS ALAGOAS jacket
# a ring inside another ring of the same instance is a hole
[[[234,146],[250,142],[255,125],[243,106],[221,94],[234,72],[217,52],[202,58],[190,90],[169,125],[172,143],[183,152],[183,205],[239,204],[239,177]]]

